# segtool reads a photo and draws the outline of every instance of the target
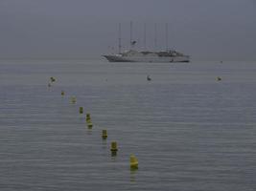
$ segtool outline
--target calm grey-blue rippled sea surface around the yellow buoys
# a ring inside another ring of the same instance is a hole
[[[0,172],[1,191],[255,191],[256,62],[1,60]]]

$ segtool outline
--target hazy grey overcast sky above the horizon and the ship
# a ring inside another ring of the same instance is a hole
[[[0,0],[0,58],[86,58],[117,51],[118,23],[142,47],[203,60],[256,60],[256,0]]]

